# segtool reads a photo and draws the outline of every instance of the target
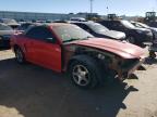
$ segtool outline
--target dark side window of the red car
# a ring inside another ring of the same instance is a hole
[[[47,27],[43,27],[43,26],[32,28],[26,32],[26,36],[43,41],[47,41],[47,40],[55,41],[51,31]]]

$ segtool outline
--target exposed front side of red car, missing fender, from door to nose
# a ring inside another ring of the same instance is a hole
[[[129,76],[145,61],[145,57],[143,56],[124,58],[108,51],[101,51],[99,49],[74,44],[68,46],[65,53],[67,57],[69,56],[69,58],[81,54],[94,57],[101,69],[102,77],[108,76],[108,78],[113,77],[119,78],[120,80],[129,78]],[[67,58],[67,62],[69,58]]]

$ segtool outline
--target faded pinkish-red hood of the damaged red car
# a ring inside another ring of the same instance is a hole
[[[144,49],[137,46],[105,38],[89,38],[88,40],[78,40],[71,43],[108,51],[123,58],[141,58],[145,54]]]

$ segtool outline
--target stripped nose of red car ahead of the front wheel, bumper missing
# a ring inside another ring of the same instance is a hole
[[[119,78],[121,81],[129,78],[145,61],[144,56],[122,58],[107,52],[97,54],[97,58],[99,66],[108,73],[110,78]]]

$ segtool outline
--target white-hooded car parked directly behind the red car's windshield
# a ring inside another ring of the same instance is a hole
[[[107,27],[95,22],[71,22],[72,24],[77,25],[82,29],[88,31],[95,37],[99,38],[110,38],[117,40],[125,40],[125,34],[116,30],[109,30]]]

